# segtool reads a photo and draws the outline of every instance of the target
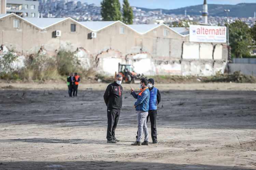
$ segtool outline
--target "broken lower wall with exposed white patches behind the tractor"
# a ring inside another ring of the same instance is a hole
[[[173,41],[169,42],[173,43]],[[4,46],[2,51],[6,51],[6,49]],[[44,47],[41,47],[40,50],[42,53],[48,54]],[[82,68],[95,68],[99,74],[109,76],[118,72],[118,63],[131,64],[134,66],[135,72],[148,76],[211,76],[217,72],[224,73],[227,65],[225,49],[223,49],[222,44],[178,41],[177,44],[170,44],[169,56],[162,55],[160,57],[154,57],[151,53],[139,47],[133,47],[130,51],[134,53],[124,55],[118,50],[107,49],[93,55],[90,51],[80,47],[75,51],[75,56]],[[25,56],[18,57],[18,60],[13,63],[13,68],[23,67],[25,60]]]

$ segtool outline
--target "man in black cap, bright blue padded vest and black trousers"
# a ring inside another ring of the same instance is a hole
[[[148,79],[147,87],[150,90],[150,102],[149,102],[149,111],[147,116],[150,118],[151,123],[151,137],[154,144],[157,142],[157,132],[156,132],[156,115],[157,115],[157,105],[161,102],[161,94],[157,88],[154,87],[154,79]]]

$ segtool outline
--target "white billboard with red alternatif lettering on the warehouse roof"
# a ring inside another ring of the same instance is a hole
[[[226,43],[227,27],[190,25],[189,41],[203,43]]]

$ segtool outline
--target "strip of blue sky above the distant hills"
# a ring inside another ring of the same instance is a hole
[[[79,0],[77,0],[79,1]],[[100,4],[101,0],[80,0],[88,3]],[[120,0],[123,2],[123,0]],[[176,9],[190,5],[203,4],[203,0],[129,0],[130,5],[146,8]],[[211,4],[256,3],[256,0],[207,0]]]

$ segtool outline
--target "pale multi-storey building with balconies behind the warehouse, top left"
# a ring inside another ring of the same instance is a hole
[[[39,2],[35,0],[6,0],[6,13],[15,13],[22,17],[39,17]]]

